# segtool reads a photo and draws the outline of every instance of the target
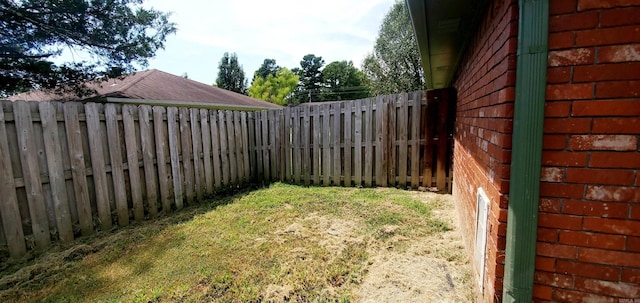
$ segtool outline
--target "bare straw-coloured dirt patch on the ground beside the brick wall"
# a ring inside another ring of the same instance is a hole
[[[433,216],[447,222],[450,230],[411,239],[403,252],[393,247],[372,252],[369,272],[356,294],[357,302],[473,301],[470,265],[451,196],[416,193],[416,198],[432,203]]]

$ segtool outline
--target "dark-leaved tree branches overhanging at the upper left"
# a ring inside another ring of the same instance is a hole
[[[146,66],[176,31],[143,0],[0,0],[0,95],[34,88],[89,93],[83,83]],[[94,62],[56,65],[63,49]]]

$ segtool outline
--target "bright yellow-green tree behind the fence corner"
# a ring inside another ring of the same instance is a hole
[[[266,78],[256,76],[249,87],[249,96],[279,105],[291,103],[299,79],[284,67],[280,68],[275,76],[272,74],[268,74]]]

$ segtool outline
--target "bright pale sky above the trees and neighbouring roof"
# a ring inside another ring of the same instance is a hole
[[[172,12],[178,28],[148,68],[206,84],[215,82],[225,52],[237,54],[249,83],[265,58],[291,69],[314,54],[325,64],[351,60],[360,68],[394,2],[147,0],[146,7]]]

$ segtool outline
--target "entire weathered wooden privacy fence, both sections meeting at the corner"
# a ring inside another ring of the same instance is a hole
[[[0,101],[0,247],[13,257],[284,181],[446,189],[432,92],[240,112]]]

